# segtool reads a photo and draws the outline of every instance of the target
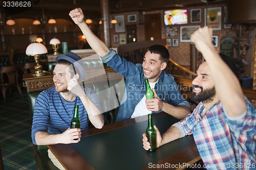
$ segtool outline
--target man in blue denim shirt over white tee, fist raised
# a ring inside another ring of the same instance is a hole
[[[163,45],[153,45],[148,48],[142,64],[134,64],[109,49],[104,42],[95,36],[83,20],[80,8],[70,11],[71,18],[79,26],[92,49],[114,70],[126,78],[125,94],[118,110],[116,122],[164,111],[176,118],[182,119],[188,113],[189,104],[180,94],[172,75],[164,71],[169,60],[168,50]],[[145,98],[144,79],[148,79],[151,88],[155,88],[155,98]]]

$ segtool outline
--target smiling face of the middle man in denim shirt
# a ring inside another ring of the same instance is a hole
[[[161,75],[162,70],[166,67],[166,62],[160,61],[160,55],[147,51],[144,58],[142,67],[144,70],[144,77],[149,82],[156,82]]]

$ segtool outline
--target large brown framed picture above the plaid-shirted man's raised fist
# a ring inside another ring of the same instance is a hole
[[[211,27],[212,30],[221,30],[221,7],[204,9],[204,25]]]

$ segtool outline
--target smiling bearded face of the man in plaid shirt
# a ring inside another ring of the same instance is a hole
[[[198,70],[197,77],[193,80],[193,91],[190,94],[191,101],[209,103],[215,99],[216,91],[214,81],[206,62],[203,62]]]

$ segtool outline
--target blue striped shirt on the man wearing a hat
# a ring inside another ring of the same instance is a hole
[[[101,110],[96,92],[90,88],[85,88],[84,90],[95,106]],[[55,86],[40,92],[34,107],[31,132],[32,142],[36,144],[35,134],[38,131],[47,131],[50,134],[60,134],[66,131],[70,127],[75,105],[79,105],[80,129],[87,129],[88,114],[78,96],[73,102],[67,102],[59,92],[55,91]]]

